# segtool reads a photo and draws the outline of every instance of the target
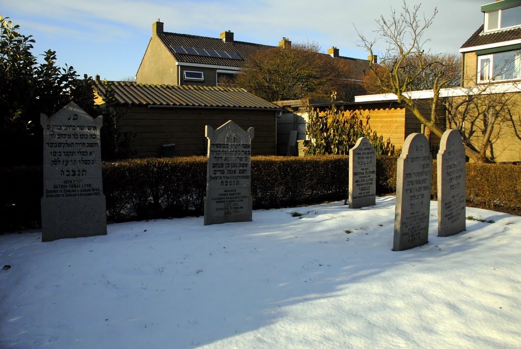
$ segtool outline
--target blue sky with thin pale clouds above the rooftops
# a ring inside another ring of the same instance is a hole
[[[424,2],[421,13],[432,15],[435,6],[439,11],[426,33],[431,52],[456,53],[481,25],[480,6],[490,2]],[[409,6],[418,3],[407,2]],[[235,40],[266,45],[278,45],[286,37],[292,42],[318,43],[322,51],[336,46],[341,56],[367,58],[367,52],[357,46],[355,28],[373,38],[375,20],[380,15],[388,17],[391,7],[401,11],[403,2],[330,0],[320,4],[315,0],[18,0],[3,2],[0,14],[20,25],[21,33],[33,35],[33,54],[51,49],[57,53],[58,65],[72,65],[82,76],[121,80],[137,73],[157,18],[167,32],[218,38],[220,32],[231,30]]]

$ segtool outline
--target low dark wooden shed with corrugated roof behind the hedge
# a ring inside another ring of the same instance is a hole
[[[116,127],[135,133],[137,157],[206,155],[205,125],[217,128],[228,120],[255,128],[253,155],[276,154],[280,107],[244,89],[96,80],[97,104],[103,103],[107,89],[127,106]]]

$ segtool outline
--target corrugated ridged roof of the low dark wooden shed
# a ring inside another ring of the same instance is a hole
[[[121,104],[280,109],[278,105],[239,88],[148,85],[126,81],[111,81],[110,86]],[[103,98],[106,91],[103,82],[96,80],[94,88]]]

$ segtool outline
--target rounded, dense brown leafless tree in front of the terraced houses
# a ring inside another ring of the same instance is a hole
[[[237,86],[268,101],[302,98],[340,98],[353,91],[349,66],[343,59],[320,53],[314,43],[259,50],[246,58]]]

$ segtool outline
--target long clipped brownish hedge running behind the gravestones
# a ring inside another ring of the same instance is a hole
[[[253,208],[343,200],[349,158],[253,157]],[[436,198],[436,161],[432,169]],[[467,163],[469,206],[521,214],[521,166]],[[378,196],[394,194],[396,158],[377,157]],[[203,214],[206,158],[137,159],[103,164],[107,220],[126,221]],[[0,169],[1,231],[40,225],[41,167]]]

